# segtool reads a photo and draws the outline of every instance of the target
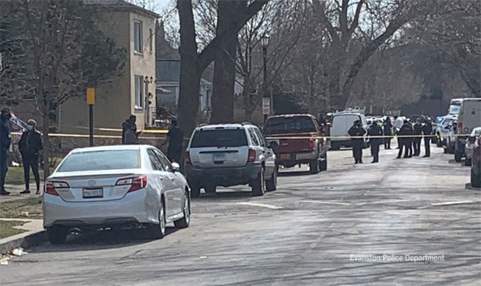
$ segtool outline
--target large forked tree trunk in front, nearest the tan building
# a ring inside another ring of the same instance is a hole
[[[194,130],[199,112],[199,86],[201,74],[216,59],[216,54],[225,49],[240,28],[269,0],[255,0],[236,11],[230,21],[217,26],[217,33],[199,52],[194,23],[192,0],[178,0],[180,26],[180,87],[179,124],[189,134]]]

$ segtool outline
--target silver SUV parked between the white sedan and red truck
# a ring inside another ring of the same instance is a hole
[[[277,160],[259,128],[247,124],[204,125],[192,132],[185,171],[192,197],[216,193],[216,186],[249,184],[253,195],[277,185]]]

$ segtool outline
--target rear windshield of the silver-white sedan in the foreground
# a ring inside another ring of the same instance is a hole
[[[57,171],[106,171],[140,168],[139,150],[104,150],[72,153]]]

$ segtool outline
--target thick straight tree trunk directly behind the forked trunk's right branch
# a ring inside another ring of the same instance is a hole
[[[245,0],[219,1],[216,36],[219,36],[224,27],[228,26],[236,11],[247,5]],[[234,121],[234,84],[236,79],[236,48],[237,33],[222,45],[221,51],[216,54],[214,64],[214,88],[212,91],[211,123],[226,123]]]

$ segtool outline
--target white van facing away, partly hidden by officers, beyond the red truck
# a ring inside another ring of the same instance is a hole
[[[367,131],[367,120],[363,113],[357,111],[341,111],[333,114],[331,122],[331,149],[337,150],[341,147],[352,147],[348,131],[355,120],[361,120],[363,128]],[[367,132],[364,141],[367,142]]]

